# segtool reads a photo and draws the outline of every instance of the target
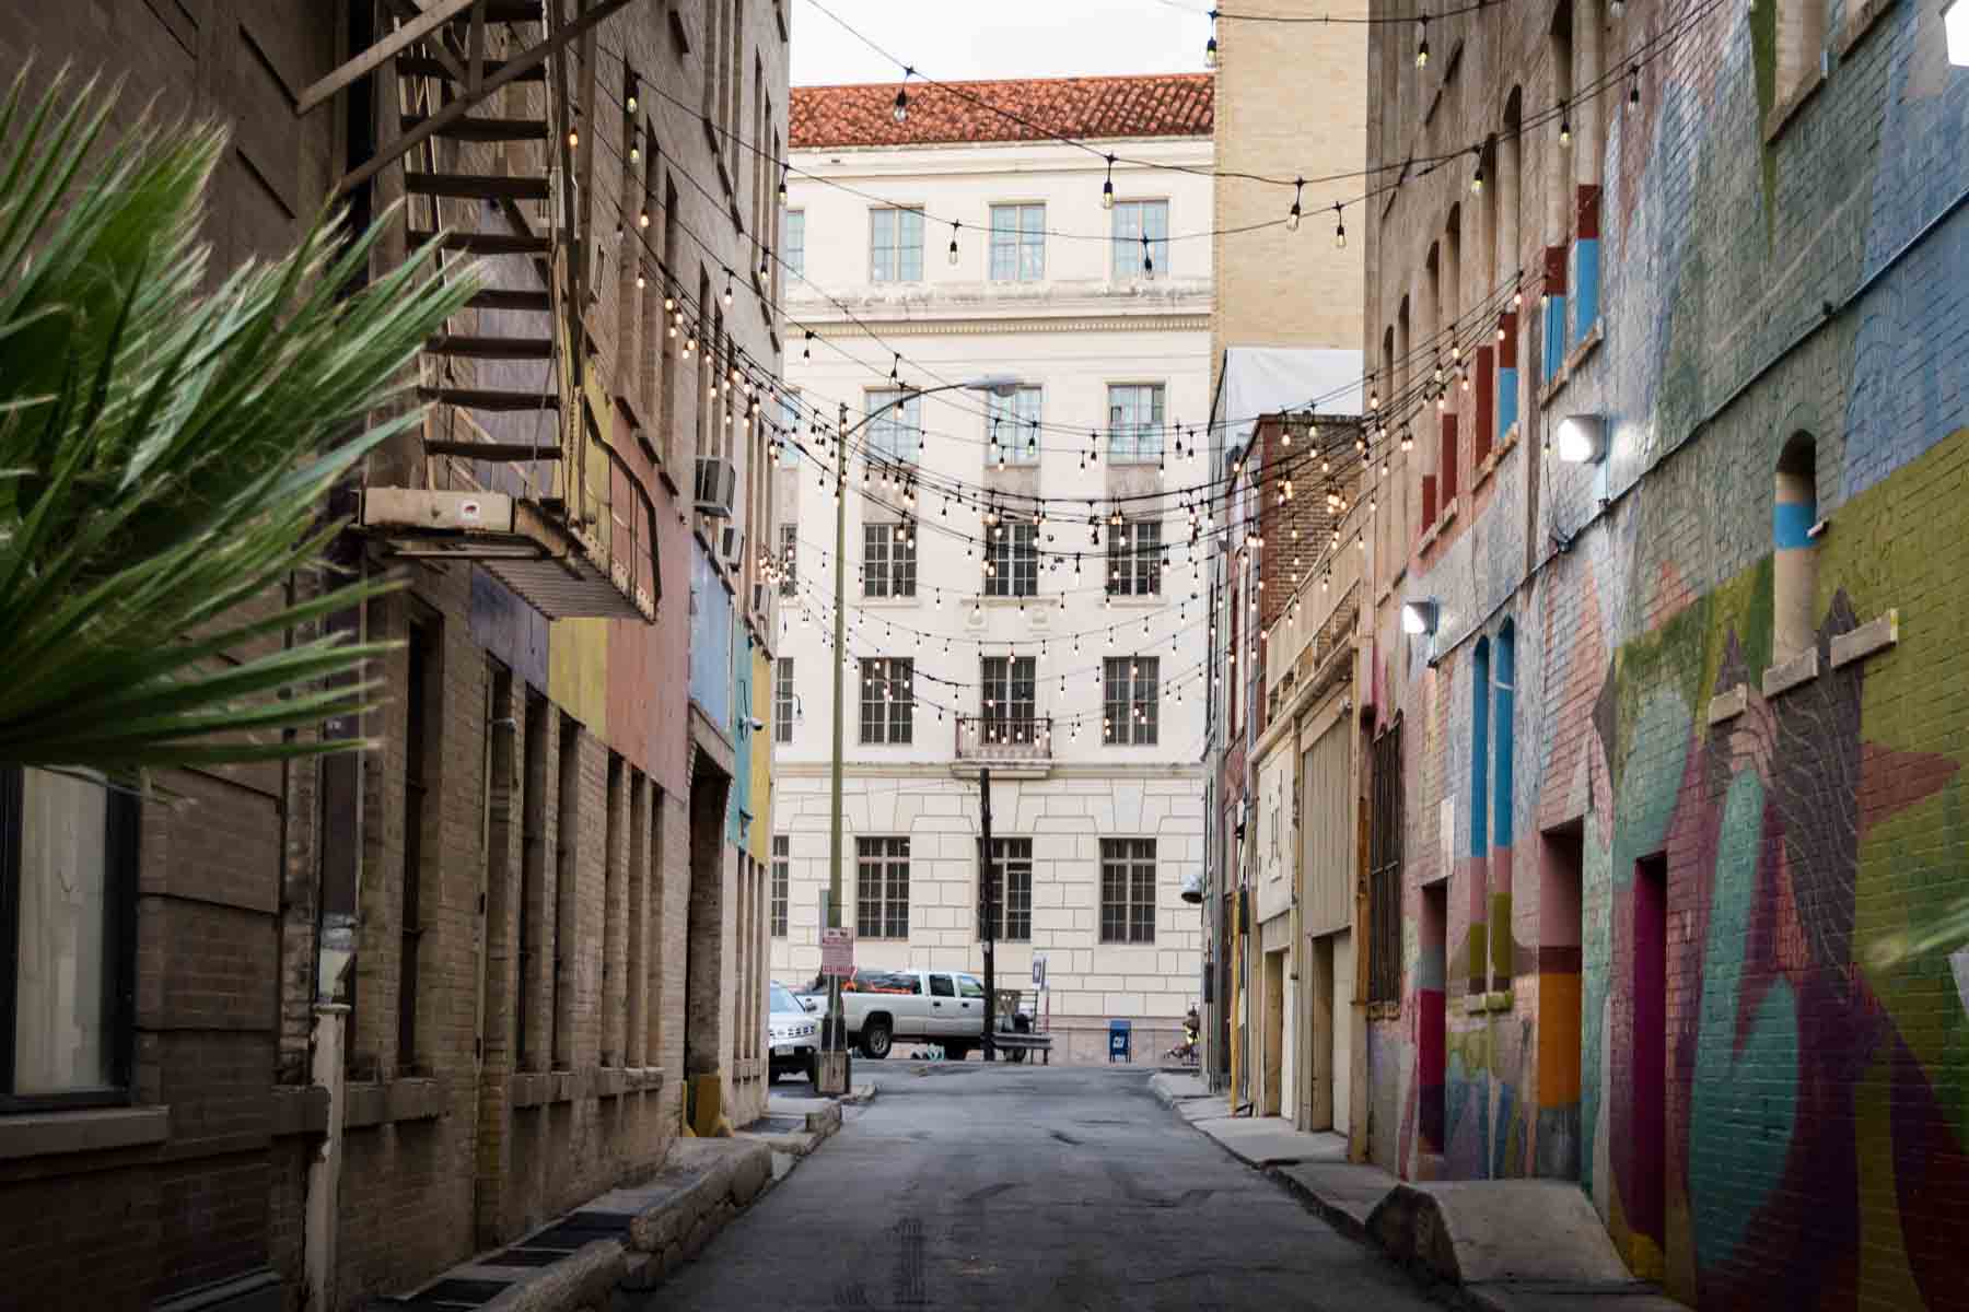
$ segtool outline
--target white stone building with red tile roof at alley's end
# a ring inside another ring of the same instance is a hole
[[[1044,954],[1067,1050],[1099,1056],[1107,1023],[1128,1019],[1146,1060],[1199,1001],[1181,889],[1203,860],[1209,594],[1174,494],[1207,480],[1211,83],[912,87],[900,124],[896,90],[792,94],[788,384],[851,425],[894,399],[892,370],[921,389],[1010,376],[1020,391],[923,395],[849,443],[902,462],[857,464],[847,498],[843,924],[858,964],[983,972],[990,765],[1000,985],[1030,999]],[[811,431],[801,443],[821,450]],[[884,464],[916,476],[914,506]],[[803,984],[829,869],[835,498],[809,456],[778,478],[794,568],[772,970]],[[992,498],[1004,513],[986,525]],[[998,529],[986,574],[981,539]],[[1111,563],[1116,545],[1132,553]]]

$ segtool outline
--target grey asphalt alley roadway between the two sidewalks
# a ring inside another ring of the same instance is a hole
[[[656,1308],[1431,1308],[1144,1072],[857,1062],[880,1096]]]

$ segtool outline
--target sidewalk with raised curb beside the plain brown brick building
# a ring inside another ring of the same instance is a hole
[[[648,1180],[608,1190],[510,1245],[459,1263],[408,1300],[372,1298],[368,1306],[577,1312],[612,1306],[618,1290],[652,1290],[841,1129],[843,1105],[874,1094],[872,1084],[847,1098],[772,1094],[766,1117],[730,1139],[677,1139]]]

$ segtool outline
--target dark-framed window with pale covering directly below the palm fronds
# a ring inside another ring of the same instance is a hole
[[[134,797],[0,773],[0,1107],[126,1102],[136,864]]]

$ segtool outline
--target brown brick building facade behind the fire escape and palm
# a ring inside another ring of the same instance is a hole
[[[742,67],[729,94],[732,132],[750,142],[762,124],[780,142],[784,6],[734,8],[736,39],[721,35]],[[221,169],[211,199],[215,275],[291,242],[349,167],[341,100],[301,120],[291,112],[303,87],[349,57],[343,6],[116,0],[61,16],[16,4],[8,14],[0,49],[16,63],[33,53],[43,67],[73,61],[128,75],[122,120],[158,94],[236,126],[238,163]],[[595,73],[577,89],[595,151],[593,203],[608,210],[591,222],[610,232],[616,207],[634,203],[620,195],[614,167],[624,148],[622,71],[632,67],[675,191],[660,222],[695,234],[671,248],[679,283],[685,260],[691,283],[699,266],[719,277],[738,269],[744,283],[758,264],[754,228],[774,220],[776,179],[750,155],[740,159],[730,138],[719,151],[705,136],[697,106],[709,20],[703,0],[638,4],[583,45]],[[538,114],[538,85],[522,83],[482,112]],[[664,179],[652,191],[664,199]],[[727,814],[730,777],[754,769],[752,736],[738,724],[750,698],[736,669],[693,677],[685,620],[701,610],[693,553],[705,555],[719,527],[691,498],[697,435],[715,433],[715,423],[701,368],[673,368],[662,389],[660,368],[638,382],[634,362],[656,356],[662,338],[638,340],[648,297],[618,277],[634,268],[620,260],[608,244],[587,323],[599,358],[622,360],[603,370],[614,405],[599,415],[601,441],[626,452],[656,502],[660,572],[648,582],[662,588],[660,622],[547,624],[478,567],[404,565],[372,549],[366,567],[404,570],[408,588],[366,608],[364,635],[406,639],[417,626],[417,643],[372,671],[386,696],[362,724],[380,747],[362,759],[360,826],[313,763],[167,781],[185,801],[150,806],[144,818],[132,1090],[138,1111],[169,1107],[167,1133],[110,1151],[0,1155],[0,1308],[47,1306],[49,1290],[83,1288],[93,1308],[150,1306],[256,1277],[278,1284],[286,1306],[303,1306],[309,1249],[321,1241],[309,1204],[325,1178],[329,1117],[341,1133],[331,1141],[339,1172],[327,1290],[331,1308],[354,1308],[654,1170],[683,1123],[687,1041],[711,1054],[705,1070],[723,1084],[732,1123],[764,1109],[750,1033],[762,1021],[762,952],[748,952],[744,976],[734,952],[764,940],[762,877]],[[486,269],[494,285],[532,277],[518,258]],[[660,299],[664,279],[650,281]],[[725,328],[736,350],[774,370],[780,321],[770,287],[742,285],[740,297]],[[504,328],[486,319],[480,330]],[[746,476],[764,466],[764,427],[736,423],[732,433],[740,486],[756,488],[732,515],[766,543],[770,480]],[[400,447],[380,458],[372,482],[415,454]],[[441,480],[459,476],[437,466]],[[480,466],[478,476],[506,486],[506,470]],[[756,557],[713,561],[705,578],[736,598],[725,612],[725,649],[760,647],[770,659],[770,614],[752,606]],[[297,580],[303,592],[311,586]],[[721,718],[689,712],[671,694],[683,685],[695,694],[707,679],[740,690],[736,702],[727,694]],[[421,753],[408,744],[413,724]],[[705,736],[715,749],[699,753],[709,765],[693,777],[693,742]],[[756,742],[764,751],[770,736]],[[419,779],[410,779],[417,759]],[[764,826],[770,789],[758,793],[752,822]],[[415,834],[412,814],[421,816]],[[713,885],[709,905],[699,897],[695,909],[693,844],[709,852]],[[358,926],[350,980],[337,995],[335,958],[321,950],[321,926],[333,921],[323,869],[350,852],[360,864]],[[408,869],[419,871],[412,899]],[[742,869],[752,879],[744,897]],[[740,909],[752,924],[736,923]],[[685,1011],[693,962],[699,972],[709,962],[705,987],[723,1001],[697,1017]],[[325,993],[350,1003],[347,1062],[327,1084],[315,1054],[323,1027],[341,1021]],[[47,1143],[71,1139],[57,1125]]]

